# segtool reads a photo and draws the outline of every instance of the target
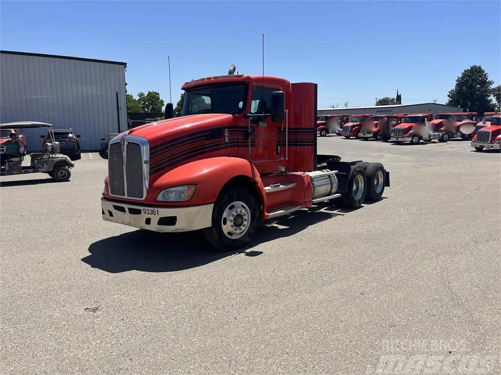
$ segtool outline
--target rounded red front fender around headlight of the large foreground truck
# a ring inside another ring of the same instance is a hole
[[[258,170],[248,160],[240,157],[217,156],[195,160],[160,176],[148,189],[148,200],[155,201],[158,193],[168,187],[195,184],[191,199],[185,202],[167,203],[171,205],[198,205],[215,202],[223,186],[234,177],[246,177],[256,184],[263,207],[266,209],[266,193]],[[165,204],[165,202],[161,202]]]

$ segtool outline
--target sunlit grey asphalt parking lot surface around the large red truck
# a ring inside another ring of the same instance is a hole
[[[394,354],[489,361],[501,343],[501,163],[469,144],[319,137],[319,153],[382,162],[383,199],[295,212],[239,252],[198,232],[104,222],[97,153],[69,182],[2,177],[0,372],[361,374]]]

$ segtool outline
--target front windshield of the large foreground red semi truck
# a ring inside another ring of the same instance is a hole
[[[245,83],[222,83],[195,86],[184,92],[182,115],[197,113],[235,114],[245,108]]]

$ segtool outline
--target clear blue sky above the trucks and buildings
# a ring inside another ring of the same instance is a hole
[[[0,3],[6,50],[125,61],[129,93],[175,102],[186,80],[265,73],[319,84],[319,108],[447,100],[480,64],[501,81],[500,1],[10,2]]]

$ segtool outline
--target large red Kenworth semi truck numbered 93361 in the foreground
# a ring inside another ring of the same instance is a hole
[[[333,198],[358,207],[381,197],[382,164],[317,154],[317,84],[232,72],[186,82],[181,117],[110,141],[104,220],[202,229],[214,247],[231,249],[261,220]]]

